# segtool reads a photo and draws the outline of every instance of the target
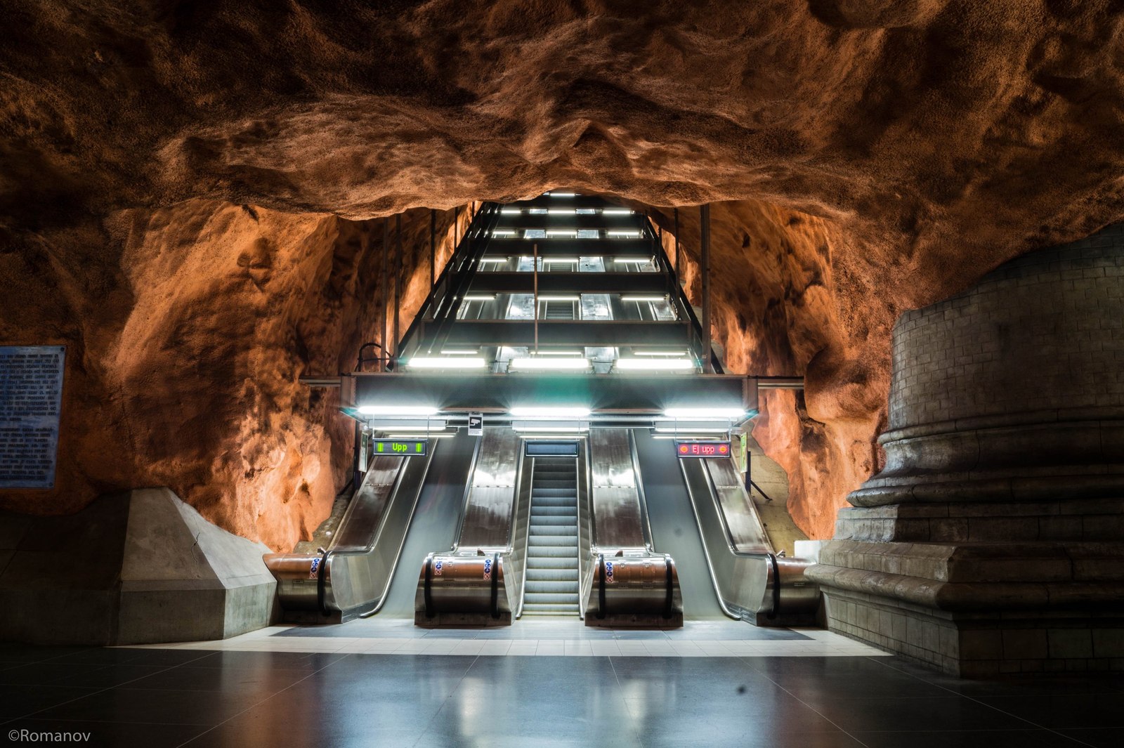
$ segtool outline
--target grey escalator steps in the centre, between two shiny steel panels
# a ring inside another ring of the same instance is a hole
[[[575,460],[536,457],[524,615],[578,615],[578,473]]]

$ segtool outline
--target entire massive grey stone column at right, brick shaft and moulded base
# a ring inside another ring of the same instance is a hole
[[[833,630],[964,676],[1124,669],[1124,226],[903,314],[880,443],[809,572]]]

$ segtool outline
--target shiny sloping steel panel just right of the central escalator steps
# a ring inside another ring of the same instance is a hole
[[[590,494],[598,549],[646,549],[628,429],[590,429]]]

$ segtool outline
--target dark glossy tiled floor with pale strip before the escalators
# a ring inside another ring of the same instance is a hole
[[[89,733],[71,745],[138,748],[1124,745],[1122,677],[959,681],[890,656],[813,653],[844,646],[821,631],[740,640],[279,631],[221,650],[0,645],[0,733],[11,745],[69,732]],[[393,645],[396,654],[351,651]],[[597,647],[616,649],[598,656]],[[792,649],[760,654],[772,647]]]

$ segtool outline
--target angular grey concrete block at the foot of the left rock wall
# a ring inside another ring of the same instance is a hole
[[[123,645],[223,639],[269,626],[269,549],[167,489],[69,517],[0,514],[0,639]],[[10,614],[9,614],[10,613]]]

